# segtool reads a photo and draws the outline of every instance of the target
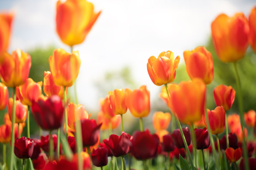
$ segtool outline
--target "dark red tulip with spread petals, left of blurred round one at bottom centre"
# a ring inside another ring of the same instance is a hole
[[[103,142],[115,157],[126,155],[130,149],[130,137],[125,132],[122,132],[120,137],[118,135],[110,135],[108,140],[103,140]]]

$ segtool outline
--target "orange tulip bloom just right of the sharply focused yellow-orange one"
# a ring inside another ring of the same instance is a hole
[[[190,79],[201,78],[205,84],[213,80],[212,54],[205,47],[196,47],[195,50],[183,52],[187,74]]]

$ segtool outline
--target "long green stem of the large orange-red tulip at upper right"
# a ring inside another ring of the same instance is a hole
[[[239,107],[239,113],[240,113],[240,123],[241,123],[241,128],[242,128],[242,134],[243,134],[243,156],[244,156],[244,165],[245,169],[249,170],[249,164],[248,164],[248,152],[247,152],[247,145],[246,145],[246,140],[245,140],[245,135],[244,135],[244,115],[243,115],[243,99],[242,99],[242,93],[241,93],[241,81],[240,77],[238,74],[238,69],[237,69],[237,64],[234,62],[234,68],[236,72],[236,85],[237,85],[237,95],[238,95],[238,107]]]

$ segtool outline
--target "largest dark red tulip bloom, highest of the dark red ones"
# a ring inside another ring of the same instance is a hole
[[[54,95],[46,100],[39,98],[31,106],[37,124],[44,130],[54,130],[61,127],[64,107],[59,96]]]

